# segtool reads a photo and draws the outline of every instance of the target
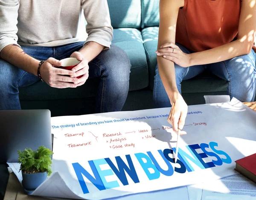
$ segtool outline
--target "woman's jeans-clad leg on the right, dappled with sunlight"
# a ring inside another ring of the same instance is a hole
[[[227,95],[239,101],[254,101],[256,90],[255,52],[210,64],[207,70],[228,81]]]

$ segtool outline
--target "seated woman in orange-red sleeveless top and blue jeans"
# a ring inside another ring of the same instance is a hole
[[[172,106],[176,132],[188,110],[180,83],[204,70],[229,82],[231,98],[254,100],[255,31],[256,0],[160,0],[154,102]]]

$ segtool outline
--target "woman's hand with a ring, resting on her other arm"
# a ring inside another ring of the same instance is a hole
[[[190,66],[190,55],[181,51],[180,48],[172,42],[163,44],[156,53],[157,56],[163,56],[163,58],[173,61],[180,67]]]

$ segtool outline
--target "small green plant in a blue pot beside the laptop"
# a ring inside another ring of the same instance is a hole
[[[18,162],[22,172],[22,185],[27,194],[31,194],[47,176],[52,173],[52,151],[41,146],[37,151],[26,148],[24,151],[18,150]]]

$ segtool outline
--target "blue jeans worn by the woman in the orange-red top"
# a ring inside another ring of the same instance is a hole
[[[192,53],[186,47],[177,43],[177,46],[185,53]],[[198,65],[192,67],[180,67],[175,64],[175,76],[177,88],[181,94],[181,81],[193,78],[209,70],[214,75],[228,81],[227,95],[240,101],[253,101],[256,90],[255,52],[252,50],[248,55],[241,55],[227,61],[213,64]],[[154,77],[154,104],[156,107],[171,107],[169,97],[163,87],[158,66]]]

